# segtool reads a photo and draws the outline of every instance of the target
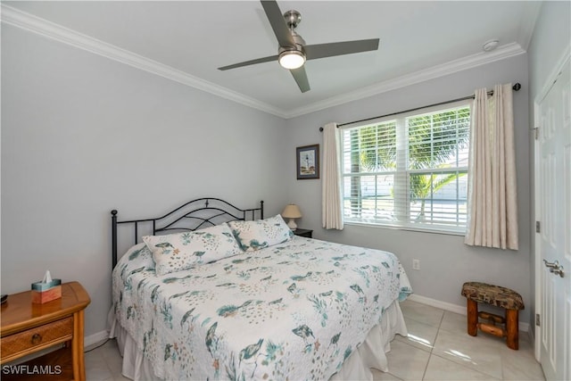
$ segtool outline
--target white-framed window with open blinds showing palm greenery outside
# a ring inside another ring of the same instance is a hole
[[[464,232],[470,108],[343,128],[346,222]]]

